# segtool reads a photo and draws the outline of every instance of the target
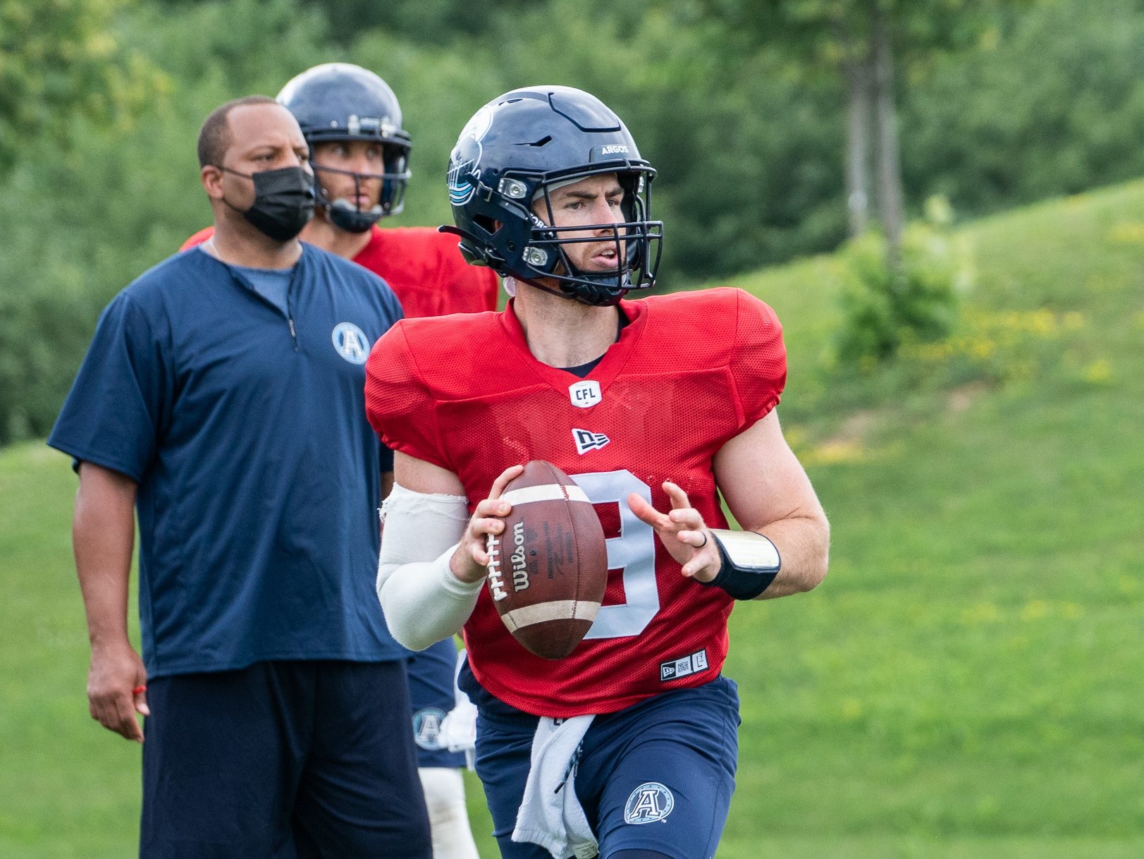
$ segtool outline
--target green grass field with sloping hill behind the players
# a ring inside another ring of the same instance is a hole
[[[1144,856],[1144,183],[961,235],[950,348],[847,389],[828,258],[737,284],[786,326],[780,413],[834,530],[819,590],[732,616],[721,859]],[[42,444],[0,450],[5,858],[135,853],[138,750],[87,716],[73,489]]]

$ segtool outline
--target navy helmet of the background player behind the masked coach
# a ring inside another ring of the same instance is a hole
[[[360,65],[324,63],[291,79],[278,102],[302,127],[310,151],[318,143],[364,140],[381,143],[384,173],[350,173],[315,164],[316,173],[348,173],[360,187],[363,179],[381,179],[381,198],[362,211],[345,200],[329,200],[317,182],[318,204],[329,220],[351,233],[364,233],[378,219],[402,211],[410,181],[410,135],[402,128],[402,108],[389,85]],[[320,180],[320,175],[319,175]]]

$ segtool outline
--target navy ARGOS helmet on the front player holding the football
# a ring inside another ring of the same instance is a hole
[[[554,230],[549,191],[588,176],[614,173],[623,221]],[[488,266],[540,289],[588,305],[614,305],[628,290],[651,286],[664,233],[651,216],[652,166],[639,157],[623,123],[580,89],[514,89],[484,105],[461,132],[450,157],[448,196],[469,262]],[[543,200],[549,222],[533,206]],[[565,246],[615,242],[617,268],[582,271]],[[548,289],[549,292],[556,290]]]

